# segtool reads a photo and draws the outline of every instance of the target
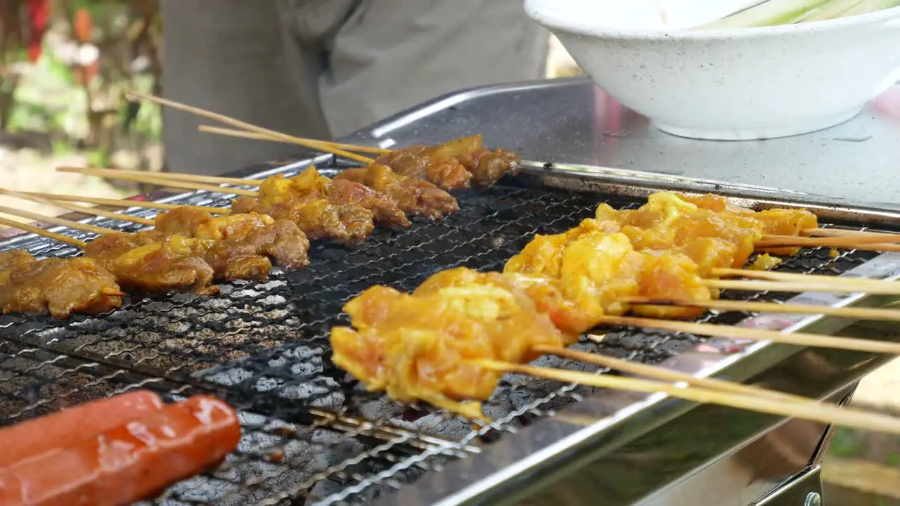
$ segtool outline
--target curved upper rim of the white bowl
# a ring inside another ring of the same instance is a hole
[[[758,26],[752,28],[715,28],[709,30],[694,30],[680,28],[674,30],[646,29],[646,28],[611,28],[592,25],[589,23],[572,22],[563,20],[553,14],[547,14],[538,5],[547,0],[525,0],[525,11],[528,17],[545,26],[549,30],[575,33],[589,37],[619,37],[628,39],[664,40],[680,39],[684,41],[709,41],[715,39],[748,39],[761,37],[778,37],[788,34],[819,32],[823,30],[839,30],[851,28],[862,24],[878,23],[900,17],[900,5],[882,9],[874,13],[858,14],[855,16],[815,21],[811,23],[781,24],[777,26]],[[554,0],[554,2],[566,2],[567,0]]]

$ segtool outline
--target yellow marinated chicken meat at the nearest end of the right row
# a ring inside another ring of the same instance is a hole
[[[344,308],[354,328],[332,329],[332,360],[370,391],[480,418],[471,400],[490,397],[501,374],[473,360],[527,362],[539,355],[537,345],[572,340],[523,289],[496,276],[414,295],[370,288]]]

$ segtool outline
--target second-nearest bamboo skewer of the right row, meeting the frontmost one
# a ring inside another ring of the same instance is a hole
[[[716,378],[699,378],[672,369],[667,369],[665,367],[648,366],[646,364],[632,362],[630,360],[623,360],[621,358],[600,355],[599,353],[588,353],[585,351],[577,351],[570,348],[556,348],[552,346],[538,346],[535,348],[535,350],[547,355],[572,358],[572,360],[578,360],[579,362],[584,362],[586,364],[608,367],[610,369],[615,369],[623,373],[642,375],[661,381],[672,383],[686,383],[691,386],[699,386],[701,388],[708,388],[710,390],[719,390],[722,392],[730,393],[742,393],[745,395],[756,395],[760,397],[770,397],[773,399],[781,399],[783,401],[810,401],[806,397],[802,397],[800,395],[778,392],[776,390],[769,390],[750,384],[734,383],[731,381],[725,381]]]

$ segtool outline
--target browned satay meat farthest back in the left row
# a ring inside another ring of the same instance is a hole
[[[347,168],[334,180],[355,181],[374,188],[388,195],[407,214],[437,219],[459,211],[459,203],[453,195],[428,181],[396,174],[384,165]]]

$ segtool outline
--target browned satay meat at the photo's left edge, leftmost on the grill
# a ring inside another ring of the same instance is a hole
[[[115,276],[90,258],[38,260],[25,251],[0,252],[0,307],[9,312],[102,313],[121,306]]]

